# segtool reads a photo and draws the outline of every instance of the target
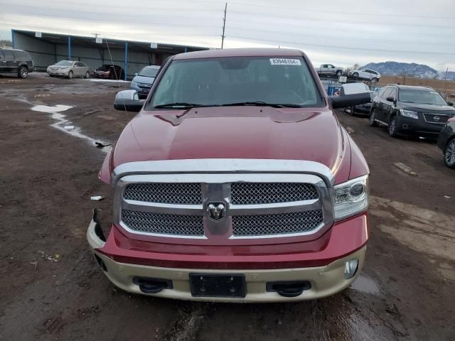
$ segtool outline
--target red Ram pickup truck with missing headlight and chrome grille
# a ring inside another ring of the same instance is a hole
[[[100,171],[114,188],[108,237],[87,240],[115,286],[200,301],[330,296],[360,273],[368,242],[368,166],[299,50],[183,53]]]

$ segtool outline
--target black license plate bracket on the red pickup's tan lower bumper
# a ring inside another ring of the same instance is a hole
[[[245,298],[244,274],[190,274],[191,295],[194,297]]]

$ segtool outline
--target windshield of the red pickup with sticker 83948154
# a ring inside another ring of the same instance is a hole
[[[304,58],[230,57],[173,60],[147,109],[235,104],[325,105]]]

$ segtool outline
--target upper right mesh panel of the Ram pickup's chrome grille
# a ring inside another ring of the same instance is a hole
[[[318,198],[318,191],[309,183],[232,183],[234,205],[271,204]]]

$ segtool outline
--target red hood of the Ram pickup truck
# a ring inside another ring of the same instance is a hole
[[[336,174],[349,143],[327,108],[204,107],[141,112],[119,136],[112,171],[133,161],[197,158],[308,160]]]

